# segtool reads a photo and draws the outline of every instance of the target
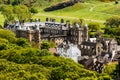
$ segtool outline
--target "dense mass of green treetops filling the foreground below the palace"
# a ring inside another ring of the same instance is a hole
[[[15,38],[13,33],[9,34]],[[106,74],[98,74],[86,70],[72,59],[55,57],[47,50],[48,45],[40,50],[27,47],[26,39],[15,38],[17,41],[13,43],[6,34],[0,35],[0,80],[110,80],[110,75],[115,75],[111,74],[113,69],[104,71]],[[50,44],[48,41],[43,43],[46,42]]]

